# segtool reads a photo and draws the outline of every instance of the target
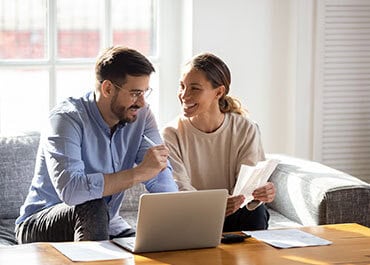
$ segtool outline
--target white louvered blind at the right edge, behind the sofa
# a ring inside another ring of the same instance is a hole
[[[317,1],[314,159],[370,183],[370,1]]]

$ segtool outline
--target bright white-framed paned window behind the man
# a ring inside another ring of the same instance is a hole
[[[94,88],[95,58],[122,44],[156,68],[156,0],[0,0],[0,133],[41,130],[49,110]]]

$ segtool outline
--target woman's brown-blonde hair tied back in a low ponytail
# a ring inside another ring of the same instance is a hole
[[[240,101],[235,97],[228,96],[231,83],[231,73],[227,65],[216,55],[202,53],[191,59],[188,63],[192,68],[204,72],[206,78],[211,82],[213,88],[225,87],[225,94],[219,99],[218,105],[222,113],[234,112],[246,115]]]

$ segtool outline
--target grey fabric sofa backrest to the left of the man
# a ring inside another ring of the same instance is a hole
[[[0,136],[0,219],[14,219],[32,181],[40,135]]]

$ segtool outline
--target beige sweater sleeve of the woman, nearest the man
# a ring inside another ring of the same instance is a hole
[[[191,180],[183,162],[183,153],[180,147],[179,137],[176,130],[166,127],[162,131],[163,140],[170,150],[170,163],[173,168],[173,177],[180,191],[196,190],[191,185]]]

